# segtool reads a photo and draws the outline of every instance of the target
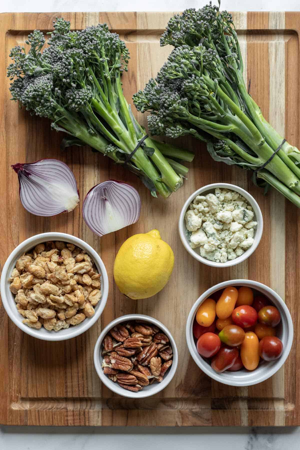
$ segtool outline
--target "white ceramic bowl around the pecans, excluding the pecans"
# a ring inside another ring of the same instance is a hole
[[[164,378],[161,383],[153,383],[149,386],[143,387],[142,391],[139,392],[132,392],[127,391],[123,387],[120,387],[118,383],[114,383],[112,380],[108,378],[107,375],[103,374],[103,369],[101,367],[103,356],[101,356],[101,352],[103,350],[102,347],[102,341],[104,339],[104,336],[111,330],[114,326],[117,324],[121,324],[122,322],[128,322],[129,320],[143,320],[144,322],[147,322],[152,325],[156,325],[158,328],[160,328],[166,336],[170,340],[170,345],[173,349],[173,363],[166,371],[166,374],[164,375]],[[143,314],[128,314],[123,315],[119,317],[118,319],[113,320],[110,324],[107,325],[100,334],[99,338],[97,339],[95,348],[94,348],[94,365],[95,369],[97,371],[97,374],[99,375],[101,381],[107,386],[111,391],[115,392],[116,394],[119,394],[123,397],[129,397],[129,398],[144,398],[144,397],[150,397],[154,394],[157,394],[157,392],[162,391],[171,381],[171,379],[174,377],[174,374],[176,372],[178,364],[178,352],[177,347],[175,344],[175,341],[173,339],[173,336],[171,335],[170,331],[158,320],[154,319],[153,317],[150,317],[148,315]]]

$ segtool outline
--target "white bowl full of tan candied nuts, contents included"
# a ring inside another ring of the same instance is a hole
[[[108,278],[90,245],[70,234],[42,233],[9,255],[0,288],[7,314],[22,331],[45,341],[63,341],[99,319]]]

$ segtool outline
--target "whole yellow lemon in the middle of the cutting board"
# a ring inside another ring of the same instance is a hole
[[[116,255],[113,275],[121,293],[137,300],[157,294],[167,284],[174,253],[157,229],[134,234]]]

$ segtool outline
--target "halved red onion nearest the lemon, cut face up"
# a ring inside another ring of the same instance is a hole
[[[141,199],[130,184],[108,180],[86,194],[82,215],[86,225],[99,236],[112,233],[139,219]]]

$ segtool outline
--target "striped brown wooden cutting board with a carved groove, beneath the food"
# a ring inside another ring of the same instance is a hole
[[[124,90],[143,88],[166,60],[170,48],[159,47],[159,37],[173,13],[64,13],[72,29],[107,22],[130,49]],[[28,32],[53,29],[61,13],[0,15],[0,261],[24,239],[45,231],[79,236],[101,255],[110,290],[101,319],[78,338],[45,342],[22,333],[0,309],[0,423],[9,425],[300,425],[300,282],[298,261],[300,211],[276,191],[265,197],[251,182],[251,174],[215,163],[205,146],[193,139],[179,144],[196,153],[184,187],[168,200],[152,198],[134,175],[89,148],[68,148],[61,153],[62,134],[50,130],[50,121],[31,117],[11,102],[5,67],[9,50],[22,45]],[[300,13],[234,13],[250,92],[264,116],[292,144],[299,146],[299,31]],[[146,116],[137,114],[145,124]],[[16,162],[54,157],[74,172],[81,200],[85,193],[109,178],[133,184],[142,198],[137,224],[100,238],[87,228],[77,207],[69,214],[41,218],[23,209]],[[248,177],[247,177],[248,175]],[[179,212],[188,196],[202,185],[228,182],[247,189],[264,216],[260,246],[245,262],[215,269],[195,261],[182,246],[177,230]],[[148,300],[123,297],[113,282],[116,252],[126,238],[158,228],[175,253],[173,275],[161,293]],[[289,307],[295,339],[284,367],[271,379],[251,387],[219,384],[198,369],[185,341],[188,312],[210,286],[228,279],[253,279],[273,288]],[[157,396],[134,401],[114,395],[100,383],[93,364],[93,349],[103,326],[120,315],[148,314],[173,333],[179,351],[177,372]],[[298,357],[297,357],[298,356]]]

